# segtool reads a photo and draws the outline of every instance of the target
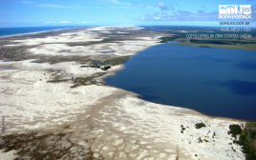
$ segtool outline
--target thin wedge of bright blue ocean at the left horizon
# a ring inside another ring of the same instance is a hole
[[[15,34],[24,34],[24,33],[32,33],[38,31],[47,31],[47,30],[60,30],[60,29],[68,29],[75,28],[70,26],[58,26],[58,27],[19,27],[19,28],[0,28],[0,37],[15,35]]]

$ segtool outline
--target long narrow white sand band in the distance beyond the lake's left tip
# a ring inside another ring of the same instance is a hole
[[[96,44],[91,46],[75,46],[69,47],[66,44],[44,44],[38,47],[32,48],[29,51],[34,54],[45,54],[45,55],[96,55],[105,54],[101,53],[102,50],[113,50],[112,54],[118,56],[134,55],[139,50],[145,50],[148,47],[157,45],[157,38],[141,37],[137,41],[117,41],[109,45],[107,43]]]

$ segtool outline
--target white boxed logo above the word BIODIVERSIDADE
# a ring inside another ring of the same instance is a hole
[[[251,5],[219,5],[219,19],[251,19]]]

